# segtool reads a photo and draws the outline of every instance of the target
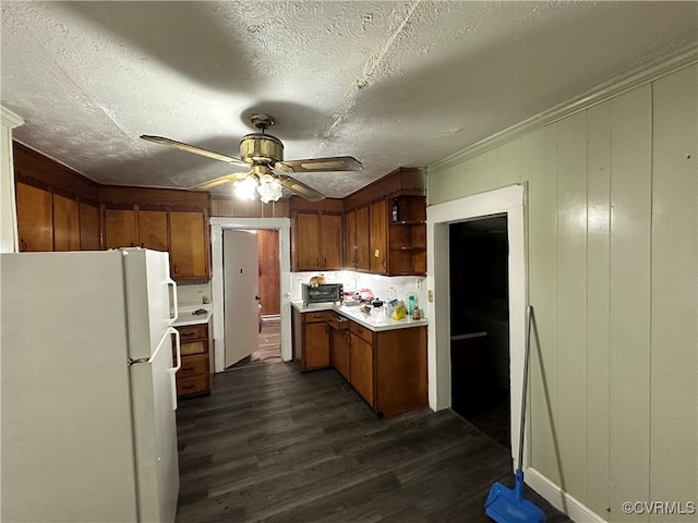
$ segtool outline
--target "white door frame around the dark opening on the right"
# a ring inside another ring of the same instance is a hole
[[[518,465],[526,306],[528,305],[525,203],[526,185],[506,187],[466,196],[426,207],[426,288],[429,336],[429,405],[434,410],[450,406],[450,252],[448,232],[452,223],[506,214],[509,246],[509,379],[512,458]],[[438,253],[437,257],[435,254]]]

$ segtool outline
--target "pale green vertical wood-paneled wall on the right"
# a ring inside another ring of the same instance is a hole
[[[698,492],[698,65],[455,166],[429,202],[528,184],[531,466],[611,522]],[[438,348],[437,350],[444,350]]]

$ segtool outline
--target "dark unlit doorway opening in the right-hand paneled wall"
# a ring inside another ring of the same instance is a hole
[[[449,226],[452,410],[510,449],[506,215]]]

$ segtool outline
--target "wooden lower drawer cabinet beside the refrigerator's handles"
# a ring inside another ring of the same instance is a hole
[[[182,365],[177,373],[177,397],[210,393],[210,323],[177,327]]]

